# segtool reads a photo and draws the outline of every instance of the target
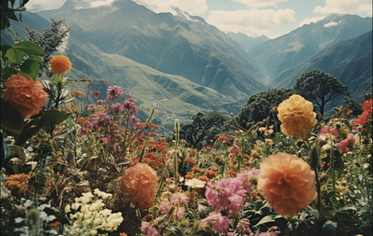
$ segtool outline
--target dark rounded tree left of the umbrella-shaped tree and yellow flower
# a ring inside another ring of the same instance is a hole
[[[272,108],[294,93],[293,89],[273,88],[251,95],[236,117],[238,124],[248,129],[268,116],[272,119]]]

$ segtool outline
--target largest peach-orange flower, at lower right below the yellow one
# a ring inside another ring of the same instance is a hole
[[[297,155],[270,155],[260,164],[258,179],[258,192],[281,215],[298,215],[317,196],[315,172]]]

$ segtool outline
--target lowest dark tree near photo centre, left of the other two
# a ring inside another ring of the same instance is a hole
[[[180,139],[185,139],[190,146],[204,148],[203,141],[216,140],[216,135],[221,131],[220,127],[229,117],[213,111],[206,115],[198,112],[192,118],[191,123],[180,125]]]

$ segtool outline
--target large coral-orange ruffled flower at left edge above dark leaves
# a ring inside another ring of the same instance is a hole
[[[20,74],[10,76],[4,83],[6,101],[17,108],[23,118],[30,118],[47,105],[48,94],[40,81]]]

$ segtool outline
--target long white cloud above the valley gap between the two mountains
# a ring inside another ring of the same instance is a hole
[[[295,11],[291,9],[210,11],[208,23],[224,32],[242,32],[247,35],[262,35],[277,26],[295,22]]]

